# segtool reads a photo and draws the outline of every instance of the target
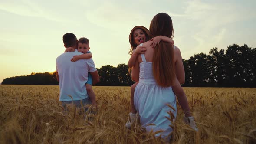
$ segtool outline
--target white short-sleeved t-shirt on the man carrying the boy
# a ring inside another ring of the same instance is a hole
[[[95,64],[91,59],[79,59],[71,62],[70,59],[78,52],[65,52],[56,59],[56,72],[59,73],[59,101],[76,101],[88,98],[85,83],[88,80],[88,72],[95,72]],[[72,96],[72,98],[70,96]]]

